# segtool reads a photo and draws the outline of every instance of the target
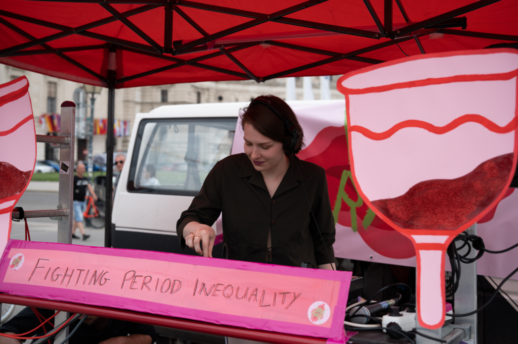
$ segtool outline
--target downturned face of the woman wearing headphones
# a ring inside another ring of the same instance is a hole
[[[282,143],[263,136],[249,124],[244,124],[244,153],[257,171],[268,171],[284,159]]]

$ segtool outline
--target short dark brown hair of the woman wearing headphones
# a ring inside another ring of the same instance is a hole
[[[266,100],[274,103],[276,109],[280,109],[290,119],[291,123],[295,126],[295,130],[298,133],[297,143],[295,144],[294,153],[300,152],[300,149],[304,147],[304,131],[298,123],[297,116],[284,100],[279,97],[267,95],[261,96]],[[286,125],[275,114],[269,107],[259,102],[251,104],[248,108],[243,109],[243,113],[239,116],[241,118],[241,128],[244,130],[244,124],[248,123],[254,127],[255,130],[260,132],[267,138],[281,142],[283,144],[284,154],[291,154],[291,142],[293,135],[286,128]]]

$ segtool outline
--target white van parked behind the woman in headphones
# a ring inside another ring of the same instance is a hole
[[[300,123],[307,142],[318,133],[312,132],[314,128],[343,126],[343,100],[287,103],[299,121],[303,120]],[[172,105],[137,114],[114,197],[113,247],[196,254],[180,248],[176,222],[214,164],[243,152],[244,141],[237,125],[239,110],[248,105],[249,102]],[[311,122],[315,112],[325,114],[318,116],[316,125]],[[218,243],[221,217],[212,227]],[[221,246],[214,246],[213,257],[221,257]]]

